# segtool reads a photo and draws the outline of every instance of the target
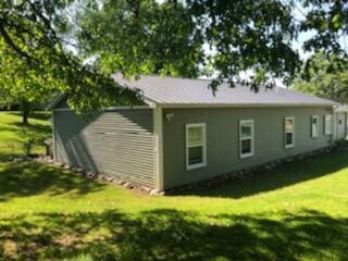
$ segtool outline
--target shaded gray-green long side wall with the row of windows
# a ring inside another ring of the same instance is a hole
[[[332,108],[164,109],[164,188],[227,174],[328,146],[324,115]],[[171,121],[166,120],[171,114]],[[319,116],[319,136],[311,137],[311,116]],[[295,147],[284,146],[284,117],[295,117]],[[239,121],[254,121],[254,154],[239,157]],[[207,166],[186,170],[185,125],[206,123]]]

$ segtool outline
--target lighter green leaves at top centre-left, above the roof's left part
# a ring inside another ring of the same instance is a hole
[[[101,10],[86,9],[79,25],[83,53],[98,57],[97,63],[108,73],[199,74],[202,38],[181,3],[107,0]]]

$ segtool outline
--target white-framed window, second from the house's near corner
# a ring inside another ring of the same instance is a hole
[[[239,156],[247,158],[253,156],[253,121],[239,122]]]

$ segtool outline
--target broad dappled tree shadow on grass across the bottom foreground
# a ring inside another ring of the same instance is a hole
[[[2,220],[7,259],[20,260],[345,260],[348,219],[303,210],[277,220],[161,209],[137,215],[37,214]],[[11,251],[12,250],[12,251]]]

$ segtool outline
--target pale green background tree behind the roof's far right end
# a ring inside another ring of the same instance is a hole
[[[319,96],[348,103],[348,60],[343,62],[336,55],[326,60],[324,53],[316,53],[310,59],[312,66],[309,70],[310,82],[299,75],[294,82],[293,88],[304,94]]]

